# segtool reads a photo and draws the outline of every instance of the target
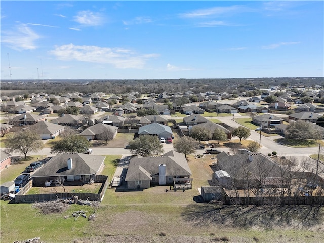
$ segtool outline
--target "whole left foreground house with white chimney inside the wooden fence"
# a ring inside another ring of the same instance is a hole
[[[76,184],[90,183],[103,170],[104,160],[105,157],[100,155],[59,154],[32,175],[33,185],[44,186],[45,182],[54,182],[58,178],[64,178],[67,182],[74,181]]]

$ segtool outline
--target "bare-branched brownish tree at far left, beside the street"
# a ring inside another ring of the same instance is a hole
[[[37,152],[43,148],[41,136],[30,129],[20,130],[19,132],[8,134],[6,147],[9,153],[20,152],[27,158],[27,153]]]

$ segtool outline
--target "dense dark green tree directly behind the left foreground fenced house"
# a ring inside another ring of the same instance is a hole
[[[85,137],[70,134],[53,142],[51,153],[83,153],[89,148],[89,145],[90,142]]]

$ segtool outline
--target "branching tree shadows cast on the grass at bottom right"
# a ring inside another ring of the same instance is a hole
[[[237,228],[258,226],[309,228],[322,223],[322,206],[238,206],[198,204],[188,206],[183,212],[185,220],[196,226],[209,224]]]

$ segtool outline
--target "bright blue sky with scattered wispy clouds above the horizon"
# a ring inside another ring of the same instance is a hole
[[[322,77],[323,11],[323,1],[1,1],[1,79]]]

